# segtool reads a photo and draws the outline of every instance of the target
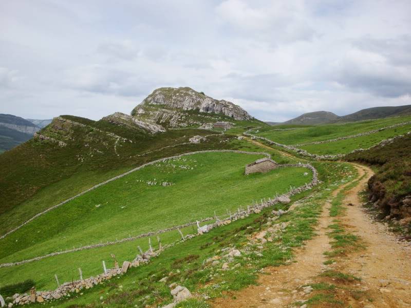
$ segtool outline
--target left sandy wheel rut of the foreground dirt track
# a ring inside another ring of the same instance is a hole
[[[333,191],[333,196],[345,187]],[[323,207],[318,220],[317,236],[295,250],[295,258],[290,265],[267,267],[258,278],[259,285],[253,285],[239,292],[232,292],[228,298],[215,299],[213,307],[283,307],[307,298],[309,292],[299,288],[313,282],[312,278],[326,269],[324,252],[330,249],[327,227],[330,203]],[[298,289],[298,290],[297,290]]]

